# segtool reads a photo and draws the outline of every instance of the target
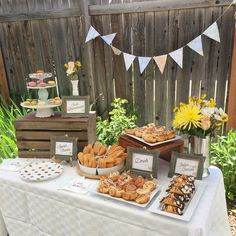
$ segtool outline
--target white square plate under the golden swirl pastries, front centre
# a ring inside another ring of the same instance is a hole
[[[92,192],[94,194],[97,194],[99,196],[103,196],[105,198],[109,198],[109,199],[116,200],[116,201],[119,201],[119,202],[124,202],[124,203],[131,204],[131,205],[134,205],[134,206],[142,207],[142,208],[147,207],[147,205],[152,201],[152,199],[155,197],[155,195],[161,190],[161,186],[158,185],[157,188],[154,191],[151,192],[150,200],[145,204],[139,204],[135,201],[126,201],[123,198],[112,197],[109,194],[99,193],[99,192],[97,192],[97,187],[98,187],[98,184],[94,184],[91,187],[90,192]]]

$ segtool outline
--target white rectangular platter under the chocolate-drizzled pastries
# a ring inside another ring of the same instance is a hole
[[[201,181],[201,180],[195,180],[195,191],[193,193],[192,198],[190,199],[190,201],[185,204],[184,207],[184,212],[183,215],[176,215],[176,214],[172,214],[172,213],[168,213],[165,211],[161,210],[161,204],[160,204],[160,200],[166,196],[167,192],[163,191],[156,199],[155,201],[152,203],[152,205],[149,207],[149,211],[151,211],[152,213],[156,213],[159,215],[163,215],[163,216],[168,216],[174,219],[178,219],[178,220],[183,220],[183,221],[190,221],[200,199],[201,196],[205,190],[206,187],[206,182]]]

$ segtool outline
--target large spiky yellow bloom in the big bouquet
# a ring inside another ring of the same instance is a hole
[[[181,130],[198,128],[201,127],[202,117],[201,110],[197,105],[193,103],[186,104],[175,113],[173,126]]]

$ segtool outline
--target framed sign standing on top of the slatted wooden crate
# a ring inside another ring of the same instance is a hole
[[[62,97],[63,117],[87,117],[89,114],[89,96]]]

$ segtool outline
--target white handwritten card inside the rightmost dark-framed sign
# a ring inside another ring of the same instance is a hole
[[[178,158],[176,161],[175,173],[197,177],[198,165],[198,161]]]

